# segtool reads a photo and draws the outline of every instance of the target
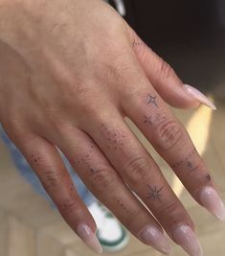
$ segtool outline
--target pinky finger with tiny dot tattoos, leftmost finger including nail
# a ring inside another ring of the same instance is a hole
[[[56,147],[35,134],[20,136],[13,141],[56,203],[63,219],[85,244],[101,253],[101,244],[95,235],[96,223],[79,198]]]

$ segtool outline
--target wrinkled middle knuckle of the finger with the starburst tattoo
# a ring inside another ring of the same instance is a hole
[[[149,163],[146,157],[135,155],[127,160],[125,164],[125,174],[131,184],[136,184],[146,176]]]

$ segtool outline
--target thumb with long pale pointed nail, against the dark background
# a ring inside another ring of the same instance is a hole
[[[192,108],[204,104],[215,109],[214,104],[204,94],[191,85],[183,84],[169,63],[147,47],[131,28],[129,28],[129,35],[136,57],[143,67],[146,77],[169,105]]]

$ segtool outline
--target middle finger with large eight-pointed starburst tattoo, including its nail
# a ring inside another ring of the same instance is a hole
[[[125,183],[146,203],[170,238],[191,255],[201,255],[189,214],[159,167],[126,127],[121,114],[112,109],[107,107],[106,116],[104,113],[99,118],[89,120],[92,126],[82,124],[82,127],[92,134],[101,151],[104,151]]]

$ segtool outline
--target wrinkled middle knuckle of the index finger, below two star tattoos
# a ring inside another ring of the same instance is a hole
[[[185,141],[185,129],[177,121],[162,122],[155,133],[156,143],[163,150],[171,150]]]

